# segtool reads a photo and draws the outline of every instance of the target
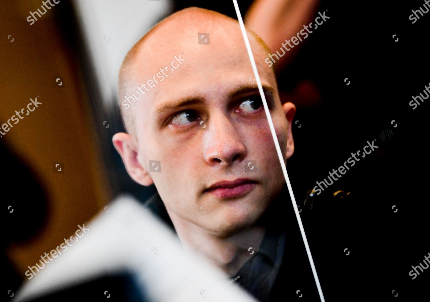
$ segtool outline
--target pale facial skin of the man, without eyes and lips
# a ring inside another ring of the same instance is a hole
[[[205,30],[212,27],[199,27],[199,31]],[[155,36],[141,46],[136,57],[146,74],[155,74],[158,67],[169,64],[173,55],[181,52],[186,61],[129,109],[136,116],[138,139],[124,136],[128,134],[114,137],[114,142],[121,138],[137,149],[136,162],[131,159],[127,164],[124,160],[129,174],[143,185],[154,182],[174,223],[190,222],[219,237],[252,226],[279,194],[285,180],[264,108],[245,116],[234,112],[237,106],[227,106],[230,93],[242,85],[251,85],[248,78],[254,77],[239,25],[228,21],[227,26],[215,27],[210,31],[209,45],[196,44],[193,28],[181,29],[181,34],[172,28],[160,28]],[[270,113],[286,161],[294,151],[291,119],[295,107],[281,104],[273,71],[264,63],[266,52],[251,34],[248,37],[261,82],[274,89]],[[163,41],[169,41],[169,47]],[[144,78],[137,76],[137,85]],[[206,122],[207,130],[199,130],[199,121],[183,128],[160,127],[154,109],[184,96],[205,101],[204,105],[181,110],[195,110]],[[292,114],[290,120],[287,113]],[[161,173],[145,172],[149,171],[149,160],[161,161]],[[245,171],[248,160],[257,162],[255,172]],[[258,184],[247,195],[228,200],[203,192],[215,182],[239,177],[251,178]],[[204,215],[201,206],[206,209]]]

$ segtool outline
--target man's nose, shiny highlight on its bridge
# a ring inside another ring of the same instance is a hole
[[[204,158],[212,166],[228,166],[246,156],[242,137],[224,114],[213,116],[204,135]]]

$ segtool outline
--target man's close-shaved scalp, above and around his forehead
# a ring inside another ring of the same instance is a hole
[[[254,39],[251,41],[250,38],[254,52],[270,52],[254,32],[247,31]],[[239,22],[226,15],[209,9],[190,7],[164,18],[135,43],[120,68],[118,101],[129,134],[136,137],[136,119],[140,117],[135,114],[136,107],[146,107],[145,104],[137,103],[144,103],[148,98],[160,94],[163,85],[159,84],[163,84],[163,81],[169,82],[169,77],[175,76],[174,70],[183,68],[179,66],[191,58],[190,55],[199,55],[199,50],[207,47],[199,45],[198,33],[209,33],[209,41],[214,48],[209,51],[225,52],[227,59],[230,54],[224,47],[225,43],[234,43],[246,52],[243,38],[240,38],[242,34]],[[258,46],[255,47],[255,44]],[[206,50],[208,49],[203,49]],[[207,66],[201,68],[213,68],[211,63],[208,61]],[[270,72],[272,71],[271,69]]]

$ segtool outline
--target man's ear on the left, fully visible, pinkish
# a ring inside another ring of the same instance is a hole
[[[120,153],[123,159],[127,173],[136,182],[143,186],[149,186],[154,183],[151,175],[143,167],[139,158],[142,157],[138,152],[137,144],[133,137],[127,133],[117,133],[112,137],[115,149]],[[140,156],[139,156],[140,155]]]

